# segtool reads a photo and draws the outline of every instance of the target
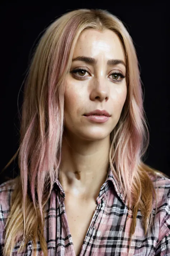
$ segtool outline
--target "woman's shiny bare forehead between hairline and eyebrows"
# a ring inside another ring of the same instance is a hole
[[[94,28],[82,31],[77,40],[73,57],[75,58],[79,55],[94,58],[122,59],[126,62],[121,39],[109,29],[103,32]]]

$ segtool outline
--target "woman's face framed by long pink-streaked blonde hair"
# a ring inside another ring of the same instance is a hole
[[[93,58],[95,62],[78,57]],[[110,59],[118,61],[108,63]],[[119,60],[126,65],[123,46],[116,33],[111,30],[99,32],[93,28],[81,33],[65,87],[64,122],[70,138],[76,136],[91,141],[110,138],[127,95],[126,67]],[[85,71],[76,71],[77,68]],[[110,114],[106,122],[94,122],[84,116],[96,109]]]

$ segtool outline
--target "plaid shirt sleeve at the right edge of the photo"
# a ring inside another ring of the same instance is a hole
[[[170,190],[169,190],[170,192]],[[160,230],[155,256],[170,256],[170,197],[167,194],[164,204],[160,207]]]

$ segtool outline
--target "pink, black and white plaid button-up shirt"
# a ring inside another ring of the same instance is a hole
[[[0,185],[1,247],[4,246],[4,224],[9,213],[11,192],[14,189],[12,181],[6,181]],[[154,226],[151,229],[151,234],[145,235],[142,215],[138,210],[136,229],[129,249],[131,255],[170,255],[170,179],[162,174],[162,176],[157,175],[156,180],[152,179],[152,181],[154,187],[159,189],[158,210]],[[109,168],[107,179],[101,186],[99,196],[96,199],[96,210],[79,256],[127,256],[132,211],[128,209],[126,198],[119,189]],[[75,256],[64,198],[65,192],[59,180],[56,180],[45,210],[44,236],[47,241],[48,256]],[[154,202],[152,214],[155,215]],[[36,255],[42,256],[40,243],[39,241],[36,243]],[[13,256],[33,255],[33,242],[31,240],[24,252],[17,253],[20,244],[21,242],[15,244]]]

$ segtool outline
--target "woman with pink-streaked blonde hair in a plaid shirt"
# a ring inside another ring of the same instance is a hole
[[[143,163],[148,144],[123,23],[62,15],[25,81],[20,175],[0,185],[4,255],[169,255],[170,178]]]

